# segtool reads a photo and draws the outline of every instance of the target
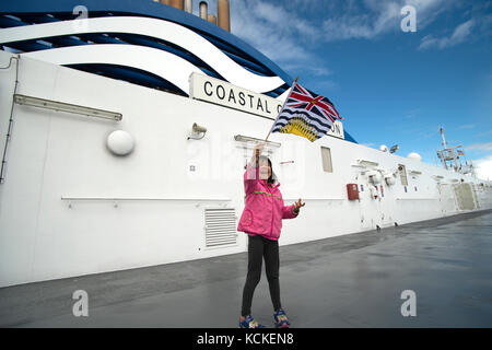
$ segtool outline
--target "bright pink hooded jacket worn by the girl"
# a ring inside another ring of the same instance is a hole
[[[246,207],[241,215],[237,231],[249,235],[261,235],[268,240],[277,241],[282,229],[282,219],[293,219],[294,206],[283,205],[280,184],[268,185],[259,178],[259,167],[248,164],[244,174],[244,190],[246,192]]]

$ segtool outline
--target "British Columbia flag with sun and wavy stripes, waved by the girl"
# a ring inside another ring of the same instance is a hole
[[[333,104],[294,82],[270,132],[302,136],[314,142],[324,137],[336,120],[342,120]]]

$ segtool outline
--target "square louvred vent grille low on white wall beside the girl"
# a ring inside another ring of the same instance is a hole
[[[219,247],[237,243],[236,211],[206,209],[206,247]]]

